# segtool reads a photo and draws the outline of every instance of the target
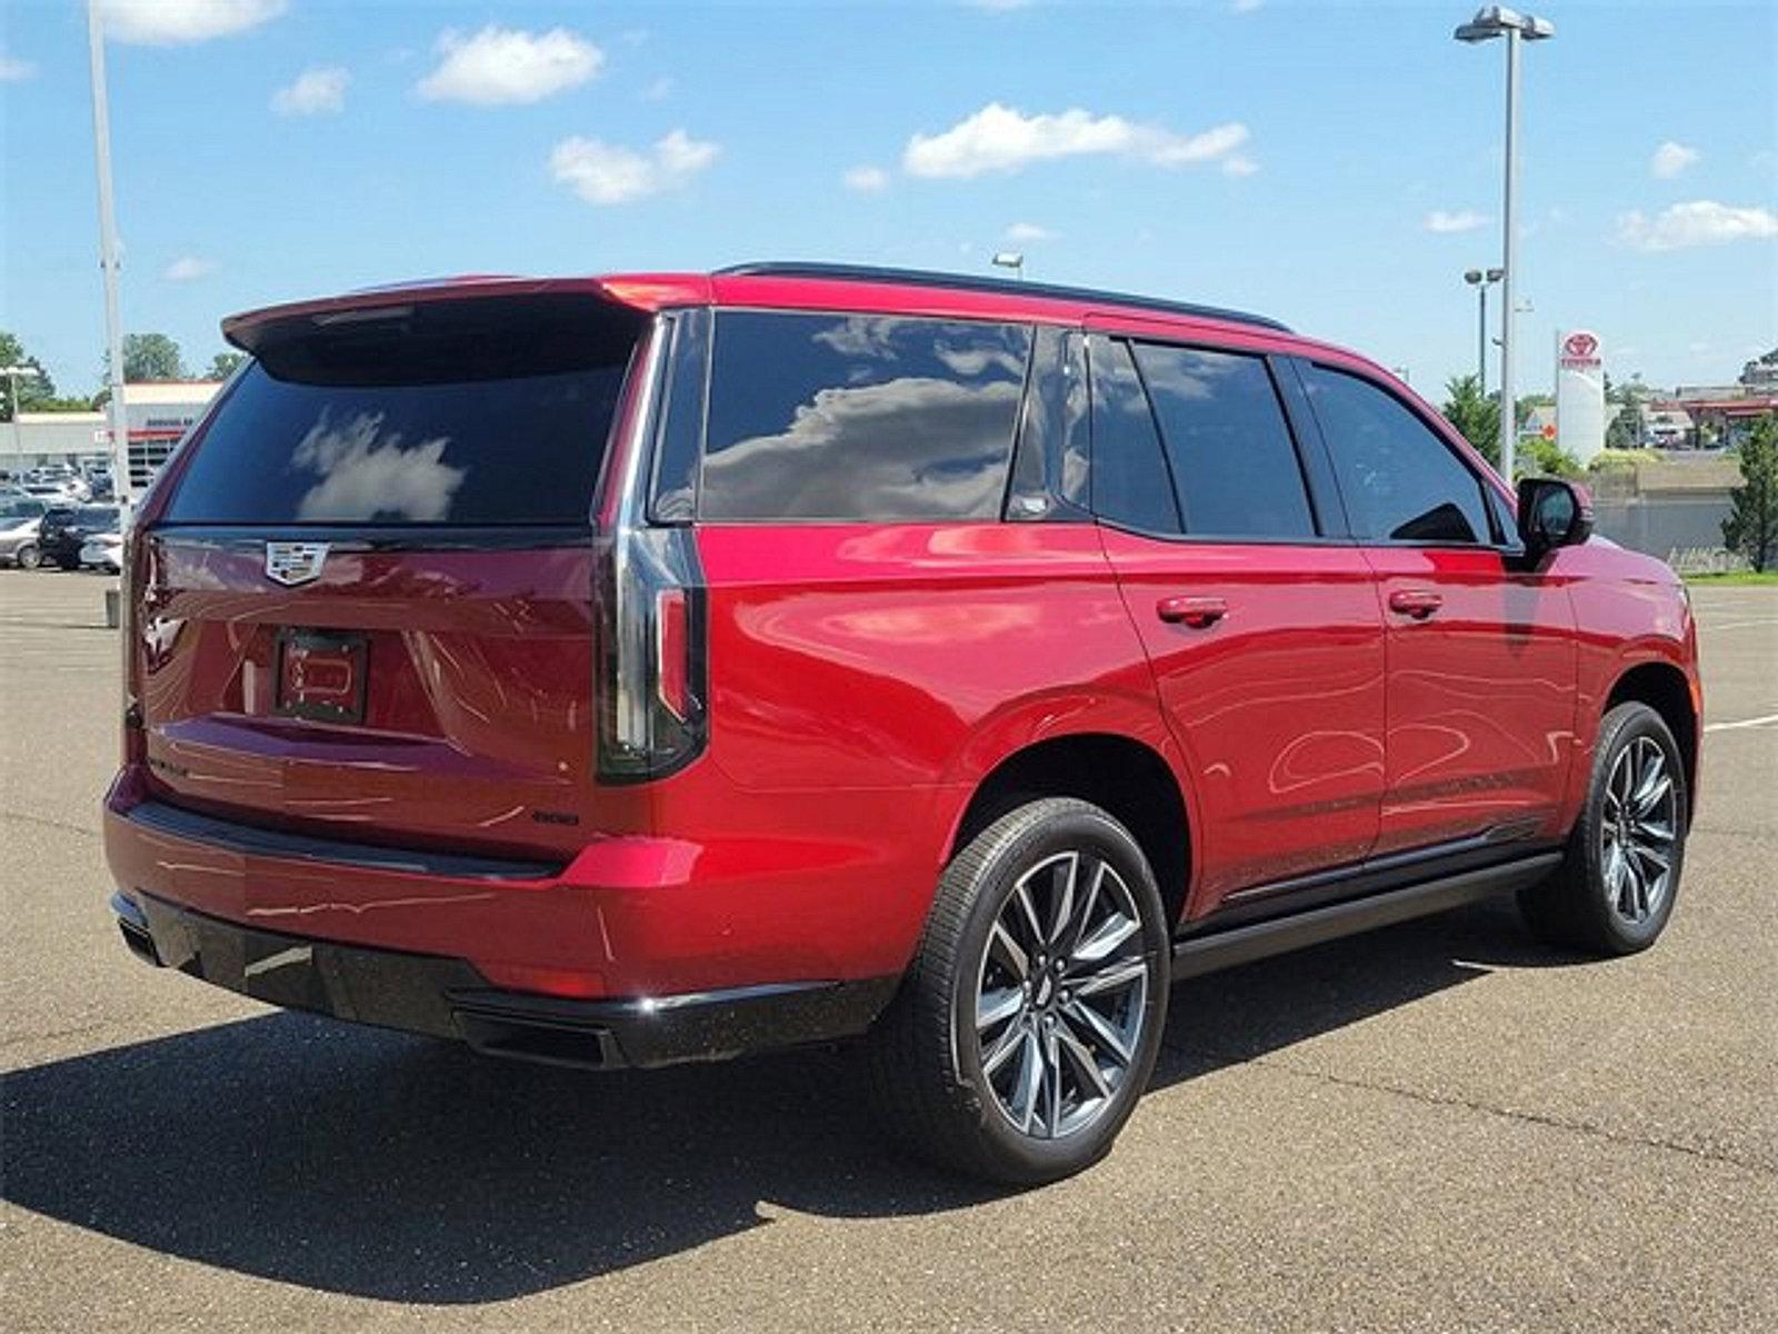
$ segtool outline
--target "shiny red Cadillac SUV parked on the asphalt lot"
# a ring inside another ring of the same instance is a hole
[[[1035,1183],[1175,978],[1673,912],[1680,583],[1273,320],[750,265],[224,333],[126,560],[153,964],[601,1069],[862,1039],[914,1145]]]

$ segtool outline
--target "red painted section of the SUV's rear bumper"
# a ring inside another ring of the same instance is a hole
[[[565,864],[512,861],[199,815],[137,765],[103,815],[114,888],[133,900],[461,959],[503,991],[621,1001],[898,976],[925,911],[907,891],[925,877],[885,856],[905,848],[777,820],[772,836],[596,834]]]

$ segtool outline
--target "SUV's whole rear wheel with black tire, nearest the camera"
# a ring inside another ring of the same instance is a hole
[[[1051,948],[1060,962],[1045,959]],[[866,1044],[891,1133],[941,1167],[1017,1186],[1099,1161],[1154,1071],[1170,962],[1154,872],[1124,825],[1063,797],[1003,815],[946,866],[914,962]],[[978,1007],[1005,1005],[1019,1007],[1005,1026],[978,1026]],[[1024,1078],[1033,1064],[1037,1085]]]

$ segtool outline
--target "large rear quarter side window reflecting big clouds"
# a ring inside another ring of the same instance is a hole
[[[877,315],[717,317],[706,519],[994,519],[1031,331]]]

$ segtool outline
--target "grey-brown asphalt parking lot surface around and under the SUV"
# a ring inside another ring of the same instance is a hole
[[[889,1156],[829,1053],[480,1062],[133,962],[103,580],[0,571],[0,1327],[1778,1327],[1778,589],[1709,589],[1650,953],[1469,909],[1202,978],[1118,1149]]]

